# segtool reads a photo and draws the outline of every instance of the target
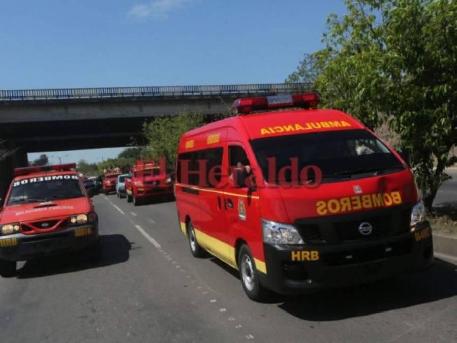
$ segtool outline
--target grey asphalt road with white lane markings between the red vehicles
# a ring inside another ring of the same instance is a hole
[[[174,202],[93,198],[102,258],[21,263],[0,279],[5,342],[457,341],[457,266],[307,296],[250,301],[237,273],[195,259]]]

